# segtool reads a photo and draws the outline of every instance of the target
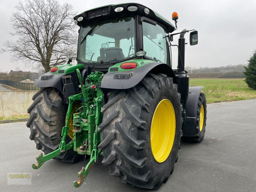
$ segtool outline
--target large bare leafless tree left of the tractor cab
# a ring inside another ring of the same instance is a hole
[[[25,5],[24,5],[25,4]],[[71,4],[60,5],[56,0],[26,0],[19,2],[10,19],[17,41],[4,42],[13,60],[44,69],[60,65],[66,57],[74,59],[77,47],[77,26],[73,24]]]

